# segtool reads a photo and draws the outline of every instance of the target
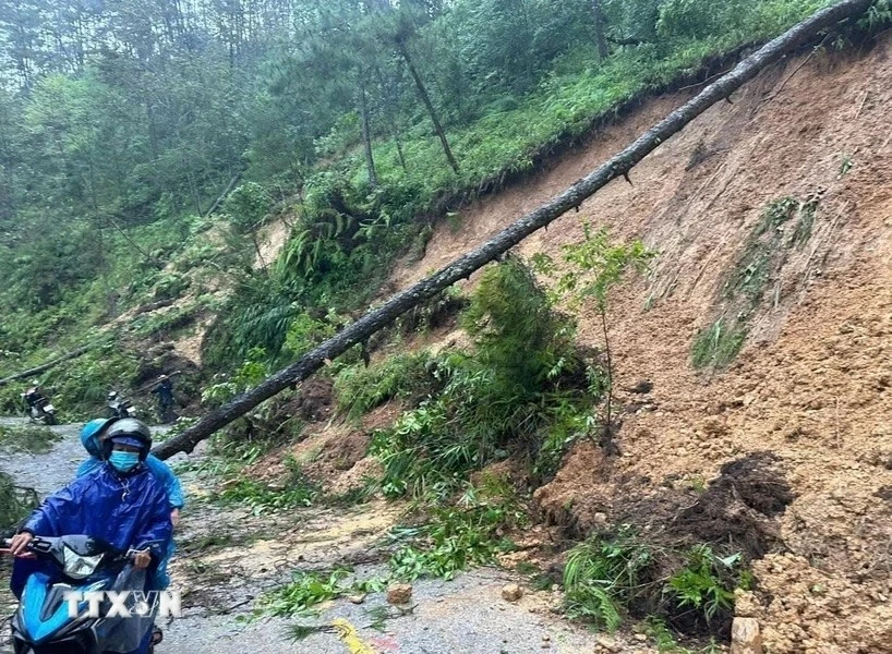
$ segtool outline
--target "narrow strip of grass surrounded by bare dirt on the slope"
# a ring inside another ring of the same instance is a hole
[[[766,292],[775,282],[773,303],[781,300],[776,284],[792,250],[803,250],[811,238],[820,199],[782,197],[763,210],[721,291],[721,315],[701,329],[691,346],[696,368],[727,366],[739,353],[749,324]],[[791,225],[792,223],[792,225]]]

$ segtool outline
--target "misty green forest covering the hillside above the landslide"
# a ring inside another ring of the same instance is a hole
[[[262,279],[248,266],[217,339],[275,359],[306,307],[357,308],[419,218],[828,3],[3,3],[0,337],[32,351],[176,296],[161,268],[212,211],[250,243],[279,210],[289,243]]]

